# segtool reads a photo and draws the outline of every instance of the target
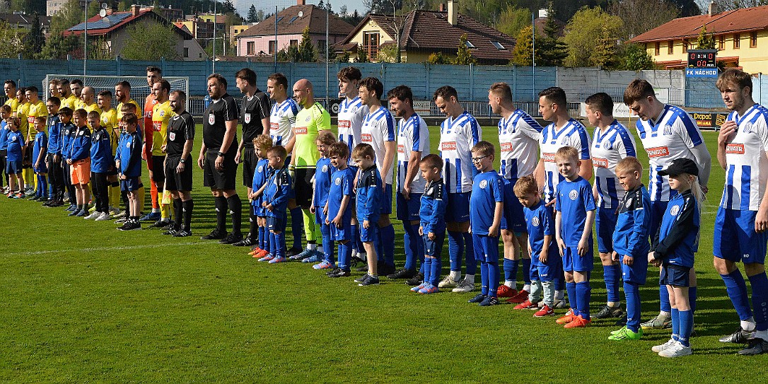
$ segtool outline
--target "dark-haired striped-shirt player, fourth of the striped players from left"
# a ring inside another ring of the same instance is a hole
[[[398,118],[397,126],[397,219],[402,220],[406,234],[406,265],[387,276],[410,279],[416,276],[416,258],[422,265],[418,280],[423,280],[424,242],[419,236],[419,209],[426,180],[419,173],[419,162],[429,154],[429,128],[413,111],[411,88],[399,85],[387,94],[389,105]]]

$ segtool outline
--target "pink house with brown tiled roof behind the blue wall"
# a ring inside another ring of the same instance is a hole
[[[329,42],[326,41],[326,15],[323,8],[306,5],[305,0],[297,0],[297,4],[266,18],[263,22],[253,25],[239,35],[237,39],[238,56],[271,56],[289,45],[299,45],[301,35],[310,28],[310,38],[318,52],[325,52]],[[275,36],[275,23],[277,34]],[[341,42],[355,27],[344,22],[336,15],[328,18],[328,40],[334,45]]]

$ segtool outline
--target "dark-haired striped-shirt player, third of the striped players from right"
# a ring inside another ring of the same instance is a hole
[[[594,126],[591,156],[594,165],[594,195],[598,200],[598,212],[595,218],[598,234],[598,253],[603,264],[607,302],[593,317],[605,319],[621,317],[624,311],[619,305],[619,283],[621,266],[612,260],[614,252],[613,235],[618,219],[618,205],[624,200],[626,191],[616,176],[616,165],[624,157],[637,157],[634,138],[614,119],[614,101],[604,92],[593,94],[584,101],[587,104],[587,119]]]

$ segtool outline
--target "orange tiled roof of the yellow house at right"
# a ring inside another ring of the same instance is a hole
[[[707,26],[707,32],[712,32],[715,35],[768,29],[768,5],[740,8],[733,11],[720,12],[712,16],[699,15],[676,18],[641,35],[637,35],[630,41],[648,42],[697,38],[703,25]]]

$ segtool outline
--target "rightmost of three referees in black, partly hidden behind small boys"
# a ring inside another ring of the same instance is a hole
[[[235,74],[237,88],[245,95],[240,109],[240,124],[243,124],[243,136],[237,147],[235,161],[243,163],[243,185],[248,188],[250,196],[253,185],[253,172],[259,159],[253,150],[253,139],[260,134],[270,134],[270,98],[256,85],[256,72],[243,68]],[[250,210],[250,220],[256,220],[253,210]],[[234,243],[238,247],[253,245],[257,233],[248,233],[242,241]]]

